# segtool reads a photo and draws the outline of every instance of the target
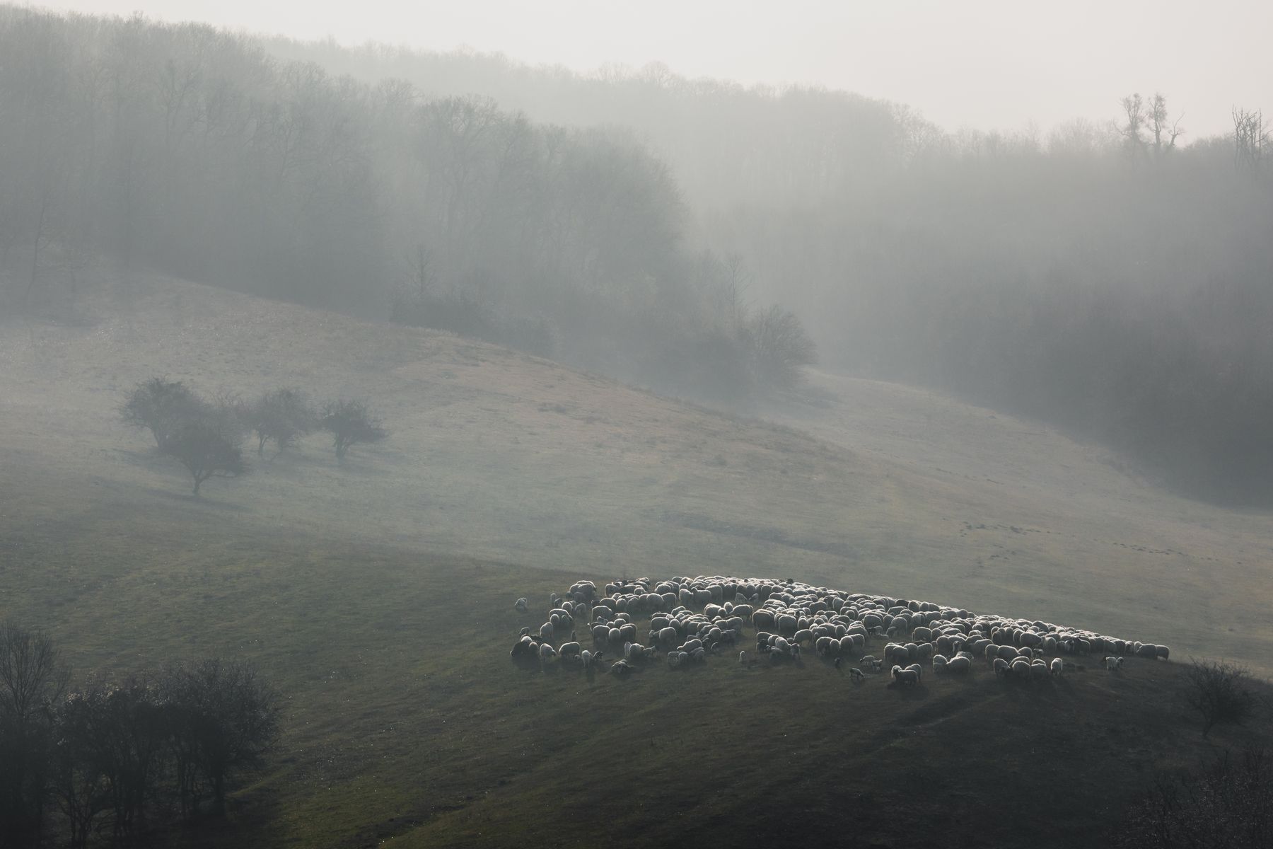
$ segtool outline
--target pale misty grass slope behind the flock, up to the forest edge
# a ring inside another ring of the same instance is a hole
[[[1273,670],[1267,514],[1178,499],[988,410],[815,375],[811,401],[779,414],[796,430],[163,277],[101,275],[79,316],[0,321],[0,458],[32,517],[136,503],[538,568],[775,574]],[[117,419],[153,374],[364,397],[392,437],[342,467],[312,437],[195,500]]]

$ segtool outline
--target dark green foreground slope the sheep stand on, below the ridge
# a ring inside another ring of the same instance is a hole
[[[281,692],[269,770],[164,845],[1100,845],[1156,770],[1265,740],[1204,741],[1157,661],[908,690],[812,657],[519,668],[513,635],[578,574],[145,508],[17,526],[0,598],[76,677],[215,654]]]

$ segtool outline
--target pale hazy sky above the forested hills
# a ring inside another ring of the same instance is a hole
[[[908,103],[948,129],[1110,118],[1161,90],[1188,137],[1230,107],[1273,111],[1273,3],[1246,0],[36,0],[298,38],[468,46],[592,70],[821,83]]]

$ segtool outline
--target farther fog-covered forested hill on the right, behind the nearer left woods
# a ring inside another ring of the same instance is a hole
[[[792,308],[833,368],[1051,421],[1194,495],[1273,499],[1273,148],[1256,104],[1204,139],[1181,121],[1198,104],[1120,92],[1102,123],[948,134],[896,104],[658,65],[269,47],[537,120],[631,125],[701,244]]]

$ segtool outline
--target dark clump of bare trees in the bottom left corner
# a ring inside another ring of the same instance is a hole
[[[219,817],[279,734],[278,694],[207,658],[69,691],[53,642],[0,622],[0,843],[137,841]]]

